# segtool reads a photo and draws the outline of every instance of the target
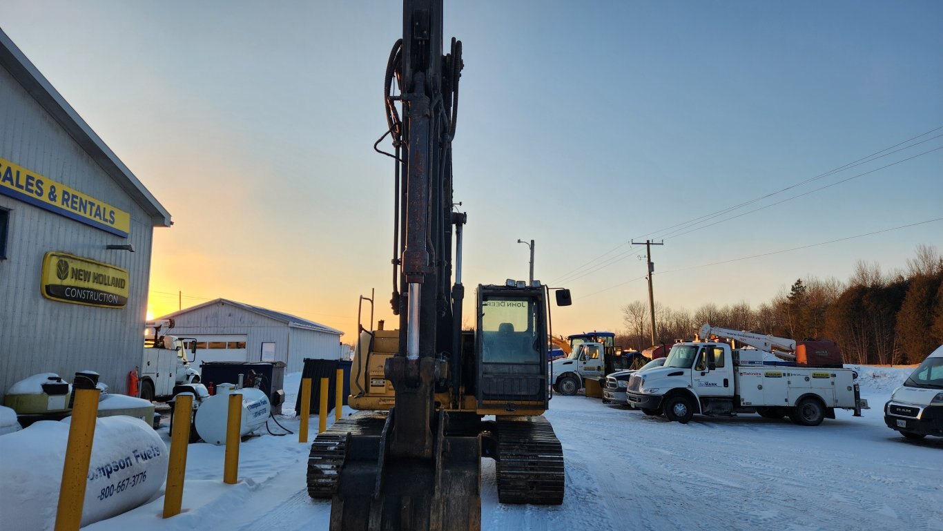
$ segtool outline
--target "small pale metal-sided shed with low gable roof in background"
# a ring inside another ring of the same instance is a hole
[[[196,339],[196,365],[204,361],[282,361],[301,372],[305,358],[339,359],[343,332],[280,311],[216,299],[160,319],[168,333]]]

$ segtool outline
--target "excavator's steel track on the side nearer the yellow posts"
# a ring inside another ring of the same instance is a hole
[[[330,500],[338,491],[340,467],[344,463],[347,434],[380,435],[386,411],[360,411],[327,428],[311,443],[307,456],[307,494]]]

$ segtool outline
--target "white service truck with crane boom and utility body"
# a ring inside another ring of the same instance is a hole
[[[629,404],[679,423],[695,413],[758,413],[769,419],[788,416],[809,426],[834,419],[836,407],[854,409],[857,416],[868,408],[851,369],[800,366],[772,355],[779,350],[779,356],[795,358],[794,340],[704,324],[700,336],[711,335],[753,348],[731,348],[720,341],[675,343],[664,367],[632,376],[626,390]]]

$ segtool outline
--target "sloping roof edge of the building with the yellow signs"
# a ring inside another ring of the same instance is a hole
[[[91,130],[75,109],[65,101],[62,94],[53,88],[49,80],[40,74],[36,66],[20,51],[20,48],[10,41],[9,37],[0,29],[0,66],[7,69],[25,91],[40,104],[78,145],[98,163],[115,183],[127,193],[135,203],[141,206],[151,217],[155,226],[170,226],[171,214],[157,201],[138,177],[127,169],[124,162],[118,158],[105,141]]]

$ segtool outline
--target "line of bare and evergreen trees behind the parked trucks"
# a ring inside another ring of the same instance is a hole
[[[652,343],[647,302],[621,308],[625,330],[617,344],[642,350]],[[918,245],[905,272],[883,274],[878,264],[859,261],[848,282],[815,276],[796,280],[753,309],[741,302],[694,312],[655,304],[655,343],[690,340],[698,328],[749,330],[794,340],[835,340],[846,363],[919,363],[943,344],[943,257]]]

